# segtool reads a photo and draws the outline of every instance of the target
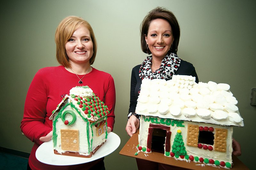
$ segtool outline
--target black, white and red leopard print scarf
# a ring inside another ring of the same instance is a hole
[[[174,53],[167,54],[160,67],[152,73],[151,65],[152,65],[152,55],[148,56],[141,64],[139,70],[140,79],[144,78],[152,79],[165,79],[170,80],[172,75],[175,74],[177,69],[180,66],[180,58],[178,55]]]

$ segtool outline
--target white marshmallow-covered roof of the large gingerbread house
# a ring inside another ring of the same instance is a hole
[[[136,113],[145,116],[244,126],[237,100],[225,83],[195,82],[188,75],[172,80],[143,79]]]

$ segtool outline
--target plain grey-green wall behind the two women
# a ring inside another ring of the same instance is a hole
[[[147,56],[140,50],[140,23],[148,11],[163,6],[179,20],[178,55],[193,63],[199,81],[231,86],[245,124],[234,128],[234,138],[242,145],[239,159],[253,169],[256,106],[250,105],[250,93],[256,88],[255,5],[254,0],[2,2],[0,146],[30,152],[33,143],[20,131],[29,84],[38,69],[59,65],[55,59],[56,27],[64,17],[76,15],[89,21],[98,41],[93,67],[112,74],[116,85],[114,132],[121,144],[105,157],[106,169],[136,169],[135,159],[119,155],[129,139],[125,125],[130,76],[132,67]]]

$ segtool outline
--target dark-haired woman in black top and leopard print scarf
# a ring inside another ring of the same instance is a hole
[[[140,65],[133,67],[131,76],[130,108],[126,132],[132,136],[140,126],[140,115],[135,113],[141,81],[148,79],[171,80],[172,75],[198,77],[195,67],[177,55],[180,26],[171,11],[157,7],[150,11],[140,25],[141,49],[149,55]],[[241,152],[240,152],[241,154]],[[165,164],[136,159],[138,169],[175,169]]]

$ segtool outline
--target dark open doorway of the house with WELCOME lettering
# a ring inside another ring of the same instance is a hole
[[[154,128],[152,133],[152,152],[164,153],[166,130]]]

